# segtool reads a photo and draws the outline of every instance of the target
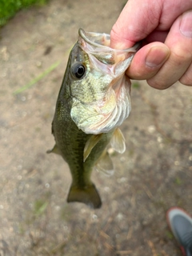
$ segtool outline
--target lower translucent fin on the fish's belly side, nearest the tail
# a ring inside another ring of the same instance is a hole
[[[99,158],[98,163],[96,166],[94,166],[94,168],[107,176],[114,174],[114,165],[110,159],[109,153],[106,150],[103,152],[101,158]]]

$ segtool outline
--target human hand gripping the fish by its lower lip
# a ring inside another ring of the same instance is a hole
[[[143,40],[126,74],[154,88],[192,86],[192,0],[129,0],[110,32],[111,47]]]

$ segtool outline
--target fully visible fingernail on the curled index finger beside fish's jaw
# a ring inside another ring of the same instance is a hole
[[[162,65],[168,58],[170,52],[166,47],[154,46],[151,47],[146,55],[146,66],[156,67]]]

